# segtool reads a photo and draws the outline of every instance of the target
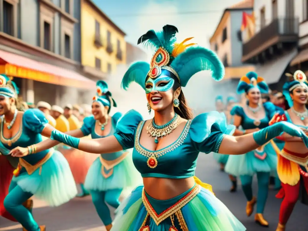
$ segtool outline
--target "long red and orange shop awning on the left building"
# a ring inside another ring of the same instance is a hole
[[[33,79],[68,87],[95,88],[95,82],[78,74],[47,63],[0,50],[0,74]]]

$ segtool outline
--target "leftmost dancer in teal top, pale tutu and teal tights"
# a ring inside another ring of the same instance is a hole
[[[35,195],[50,206],[59,206],[74,198],[77,188],[70,167],[61,153],[52,149],[35,153],[33,144],[42,141],[42,135],[49,136],[54,128],[38,109],[18,111],[16,99],[17,92],[9,83],[0,87],[0,114],[4,115],[0,128],[0,152],[10,155],[13,148],[30,145],[29,154],[32,155],[19,158],[3,204],[24,230],[45,230],[45,226],[39,226],[32,217],[32,203],[26,208],[23,204]]]

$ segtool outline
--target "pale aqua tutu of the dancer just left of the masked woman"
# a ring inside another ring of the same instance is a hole
[[[104,155],[104,154],[103,154]],[[132,161],[132,150],[119,164],[115,165],[109,177],[102,174],[102,163],[98,157],[91,165],[84,187],[87,190],[107,191],[109,189],[134,188],[142,183],[140,173]]]

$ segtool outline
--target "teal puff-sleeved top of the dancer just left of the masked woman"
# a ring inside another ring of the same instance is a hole
[[[114,134],[116,124],[118,123],[121,116],[122,116],[122,113],[117,112],[111,117],[111,129],[110,129],[110,132],[107,136],[112,136]],[[94,119],[93,115],[90,115],[90,116],[84,118],[83,119],[83,125],[80,128],[81,131],[83,132],[83,134],[85,136],[88,136],[88,135],[91,134],[92,139],[99,139],[99,138],[107,137],[107,136],[99,136],[95,132],[95,123],[96,123],[96,120]],[[104,160],[115,160],[115,159],[119,158],[124,152],[125,151],[105,153],[105,154],[101,154],[101,156],[103,157]]]

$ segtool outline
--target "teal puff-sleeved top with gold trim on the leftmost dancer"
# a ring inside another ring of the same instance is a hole
[[[48,121],[45,118],[45,115],[39,109],[28,109],[22,116],[20,122],[19,131],[11,139],[5,139],[3,136],[3,125],[4,121],[1,118],[0,125],[0,152],[3,155],[8,155],[10,150],[15,147],[26,148],[29,145],[37,144],[42,141],[42,131],[45,126],[48,124]],[[36,164],[42,160],[46,154],[49,152],[49,149],[42,152],[38,152],[32,155],[22,157],[29,164]]]

